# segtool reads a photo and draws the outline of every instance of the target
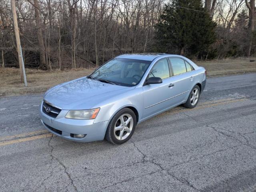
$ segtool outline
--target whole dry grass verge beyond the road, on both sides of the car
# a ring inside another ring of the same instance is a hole
[[[207,70],[208,76],[223,76],[256,72],[255,58],[238,58],[213,61],[197,61],[196,64]],[[21,94],[36,94],[50,87],[90,74],[94,69],[77,69],[66,71],[42,71],[26,69],[28,86],[20,83],[20,70],[17,68],[0,68],[0,97]]]

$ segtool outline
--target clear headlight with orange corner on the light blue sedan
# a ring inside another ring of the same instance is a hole
[[[65,118],[70,119],[95,119],[98,115],[100,108],[90,109],[90,110],[79,110],[79,111],[69,111]]]

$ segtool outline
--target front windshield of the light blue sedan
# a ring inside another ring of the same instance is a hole
[[[88,78],[121,86],[135,86],[151,61],[114,58],[95,70]]]

